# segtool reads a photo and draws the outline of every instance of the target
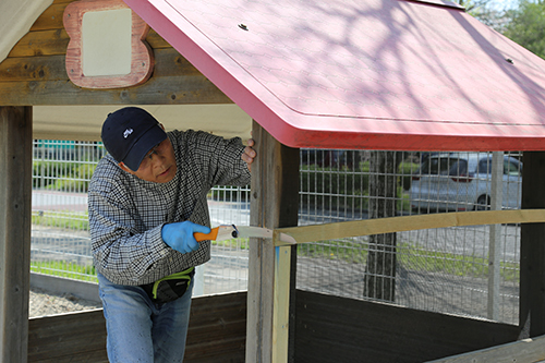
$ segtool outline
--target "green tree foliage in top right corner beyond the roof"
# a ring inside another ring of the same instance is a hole
[[[504,35],[545,58],[545,1],[521,0],[519,8],[507,11],[507,16]]]

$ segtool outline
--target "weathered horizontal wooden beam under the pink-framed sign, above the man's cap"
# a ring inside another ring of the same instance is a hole
[[[146,83],[100,90],[70,82],[63,56],[8,59],[0,64],[0,99],[4,106],[232,104],[177,50],[158,49],[155,57],[154,75]]]

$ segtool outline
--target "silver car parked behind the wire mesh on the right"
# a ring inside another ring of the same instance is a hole
[[[520,207],[522,162],[504,156],[502,207]],[[489,209],[492,153],[431,155],[413,174],[409,191],[413,210]]]

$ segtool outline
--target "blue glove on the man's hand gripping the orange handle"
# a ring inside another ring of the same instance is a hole
[[[189,220],[162,226],[161,238],[172,250],[181,253],[197,251],[198,242],[193,233],[210,233],[210,228],[196,225]]]

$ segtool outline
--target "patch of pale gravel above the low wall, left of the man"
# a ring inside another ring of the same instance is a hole
[[[102,307],[100,303],[77,299],[71,293],[50,294],[41,289],[31,289],[29,317],[64,314]]]

